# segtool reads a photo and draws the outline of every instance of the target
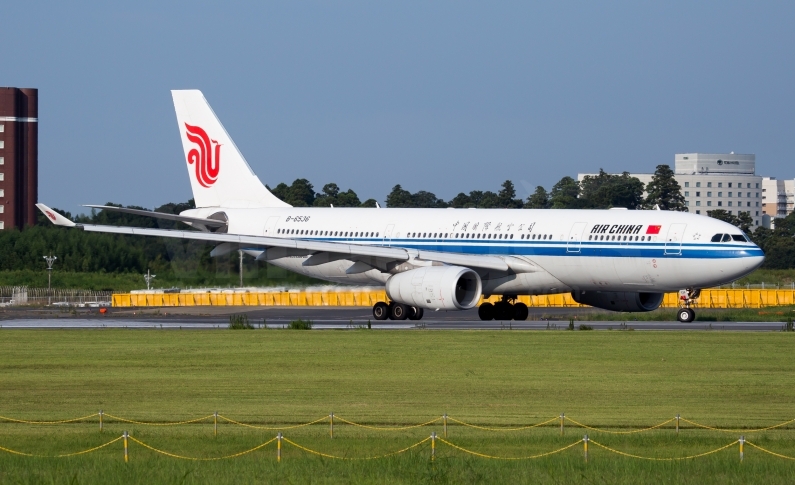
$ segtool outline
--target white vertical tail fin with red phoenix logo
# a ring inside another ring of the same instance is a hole
[[[171,91],[196,207],[290,207],[260,182],[201,91]]]

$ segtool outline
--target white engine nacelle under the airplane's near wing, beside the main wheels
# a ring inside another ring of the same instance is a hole
[[[461,266],[417,268],[386,281],[390,300],[428,310],[469,310],[482,290],[480,276]]]

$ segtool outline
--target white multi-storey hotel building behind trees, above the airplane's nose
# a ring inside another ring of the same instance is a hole
[[[577,174],[582,181],[586,175]],[[654,174],[633,173],[641,182],[651,182]],[[754,226],[763,225],[762,177],[756,175],[756,156],[735,153],[677,153],[674,177],[690,212],[706,215],[723,209],[731,214],[749,212]],[[767,224],[765,224],[767,225]]]

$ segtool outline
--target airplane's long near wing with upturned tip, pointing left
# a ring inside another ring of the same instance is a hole
[[[139,236],[169,237],[190,239],[215,243],[232,243],[240,248],[269,249],[281,257],[297,254],[327,253],[330,259],[357,259],[357,257],[379,258],[390,261],[408,261],[413,258],[460,266],[507,271],[508,264],[496,256],[481,256],[459,253],[442,253],[438,251],[418,251],[410,248],[370,246],[364,244],[348,244],[342,242],[312,241],[306,239],[288,239],[265,236],[246,236],[242,234],[211,233],[202,231],[180,231],[175,229],[150,229],[142,227],[104,226],[95,224],[76,224],[58,214],[44,204],[36,204],[55,225],[75,227],[89,232],[110,234],[130,234]],[[350,257],[350,258],[349,258]]]

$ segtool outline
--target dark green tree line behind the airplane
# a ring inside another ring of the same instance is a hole
[[[271,191],[295,207],[375,207],[376,201],[361,201],[352,190],[341,190],[335,183],[315,192],[307,179],[295,180],[287,185],[280,183]],[[645,195],[644,195],[645,193]],[[681,187],[668,165],[659,165],[652,181],[644,184],[628,173],[598,174],[577,181],[563,177],[549,191],[538,186],[526,198],[517,196],[516,187],[506,180],[498,190],[473,190],[460,192],[445,201],[432,192],[410,192],[400,185],[392,188],[385,199],[386,207],[427,208],[511,208],[511,209],[653,209],[686,211]],[[108,205],[118,205],[108,203]],[[130,206],[142,209],[141,207]],[[169,203],[155,208],[157,212],[178,214],[195,207],[193,200]],[[187,229],[181,223],[108,211],[72,215],[56,209],[67,218],[79,223],[118,226],[152,227],[162,229]],[[775,229],[752,227],[748,213],[730,214],[714,210],[708,215],[727,221],[745,231],[766,253],[765,267],[774,269],[795,268],[795,213],[776,219]],[[67,230],[53,226],[42,215],[39,222],[22,231],[0,231],[0,271],[35,270],[44,268],[42,256],[56,254],[59,271],[86,273],[136,273],[152,272],[189,284],[201,285],[227,278],[234,282],[237,274],[237,254],[212,258],[214,245],[198,241],[151,238],[118,234],[100,234]],[[246,259],[247,271],[255,271],[266,278],[269,275],[283,281],[292,277],[264,262]],[[0,275],[0,278],[2,275]],[[309,280],[307,280],[309,281]],[[0,284],[2,282],[0,281]]]

